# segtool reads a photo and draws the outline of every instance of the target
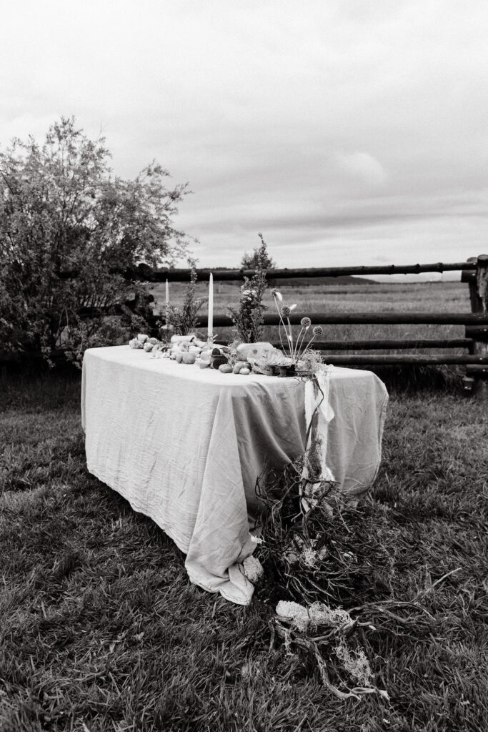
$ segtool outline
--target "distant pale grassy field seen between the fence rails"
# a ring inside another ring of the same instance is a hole
[[[170,302],[181,305],[187,285],[185,283],[170,284]],[[165,302],[165,285],[158,284],[153,289],[156,300],[154,311],[159,312]],[[198,296],[208,295],[208,283],[197,284]],[[282,288],[287,304],[297,303],[299,313],[353,313],[383,312],[394,313],[418,311],[426,313],[469,313],[470,301],[468,285],[460,282],[445,283],[375,283],[359,285],[301,285],[299,287]],[[228,305],[239,302],[239,285],[233,283],[214,283],[214,313],[225,314]],[[269,295],[265,299],[269,312],[274,305]],[[206,318],[207,309],[203,305],[201,311]],[[232,337],[231,329],[217,329],[222,340]],[[324,329],[324,340],[357,340],[366,338],[434,338],[464,337],[464,326],[432,326],[432,325],[328,325]],[[266,340],[276,340],[277,328],[264,330]],[[353,351],[351,351],[352,353]],[[381,353],[382,351],[378,351]],[[419,351],[421,352],[421,351]],[[432,352],[432,351],[429,351]],[[450,353],[456,353],[450,349]],[[459,351],[462,353],[463,351]]]

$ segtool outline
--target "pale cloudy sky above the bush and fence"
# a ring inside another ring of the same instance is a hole
[[[488,251],[486,0],[1,0],[0,145],[61,115],[189,183],[200,266]]]

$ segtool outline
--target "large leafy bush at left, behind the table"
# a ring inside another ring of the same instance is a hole
[[[145,284],[122,274],[140,262],[170,266],[186,252],[173,226],[186,185],[166,188],[169,173],[157,163],[121,179],[109,159],[104,138],[90,141],[66,118],[42,146],[15,139],[0,152],[1,348],[47,359],[62,348],[80,359],[113,342],[132,318],[124,302],[148,299]],[[116,305],[126,322],[107,316]],[[83,308],[98,316],[83,318]]]

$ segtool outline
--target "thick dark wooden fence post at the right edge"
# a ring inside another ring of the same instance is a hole
[[[476,272],[462,277],[463,281],[468,280],[471,312],[488,313],[488,254],[471,257],[468,262],[476,262]],[[466,337],[473,338],[473,355],[488,356],[488,326],[467,326]],[[479,398],[488,398],[488,367],[468,366],[464,384],[466,390],[473,390]]]

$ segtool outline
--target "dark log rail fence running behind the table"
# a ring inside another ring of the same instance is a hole
[[[470,292],[470,313],[292,313],[290,322],[299,324],[304,315],[308,315],[315,324],[433,324],[464,325],[465,337],[458,338],[418,338],[416,340],[344,340],[321,341],[315,347],[322,351],[328,363],[335,365],[432,365],[458,364],[465,365],[465,389],[488,387],[488,255],[472,257],[466,262],[454,264],[412,264],[405,266],[351,266],[351,267],[318,267],[308,269],[270,269],[266,273],[268,280],[285,280],[307,278],[311,282],[317,277],[339,277],[342,275],[409,275],[421,272],[455,272],[461,271],[462,282],[468,283]],[[212,272],[214,281],[243,280],[252,277],[254,270],[247,269],[198,269],[199,280],[208,280]],[[152,270],[140,266],[127,277],[149,282],[185,282],[189,280],[188,269]],[[265,315],[265,325],[278,325],[278,315]],[[204,319],[200,326],[205,326]],[[232,326],[229,315],[214,314],[214,326]],[[408,353],[413,349],[429,348],[463,348],[465,354],[416,354]],[[374,354],[370,351],[402,350],[404,354]],[[365,351],[364,354],[334,354],[334,351]]]

